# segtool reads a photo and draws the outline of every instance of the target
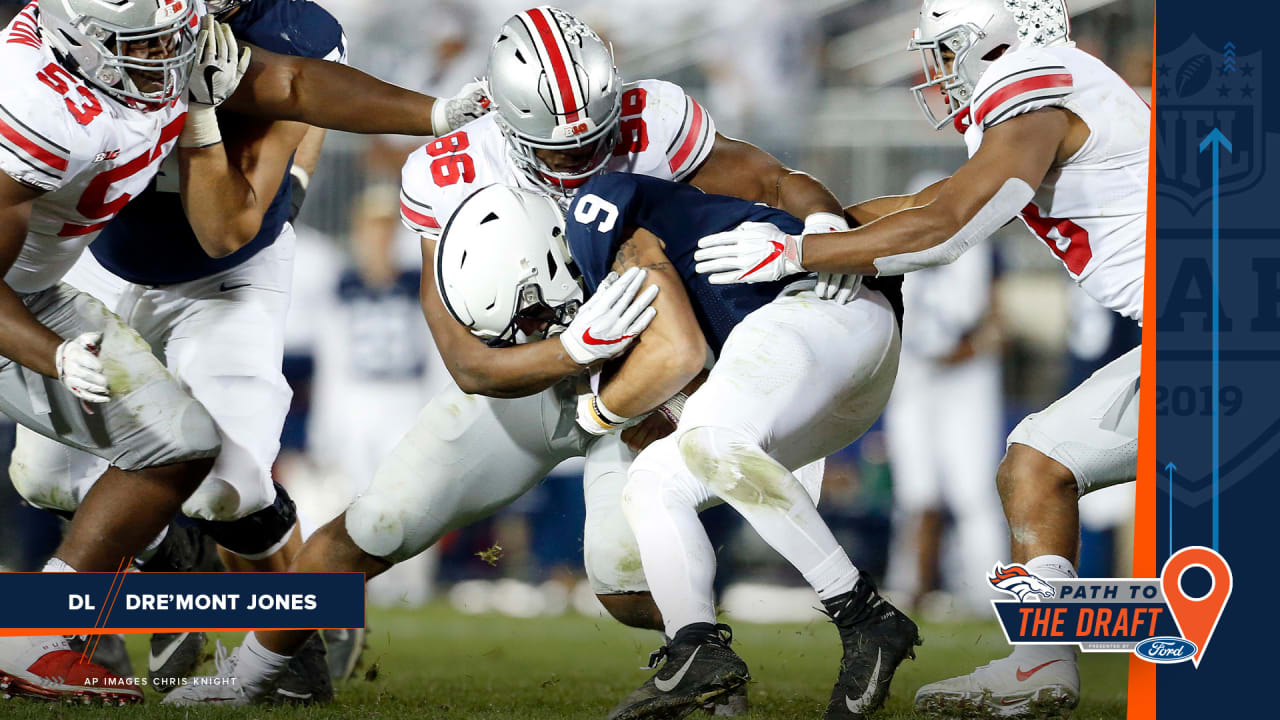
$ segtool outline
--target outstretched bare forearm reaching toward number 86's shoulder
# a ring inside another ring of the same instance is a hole
[[[228,102],[247,115],[344,132],[433,135],[434,97],[339,63],[255,49],[246,79]]]

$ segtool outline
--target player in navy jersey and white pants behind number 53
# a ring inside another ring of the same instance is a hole
[[[280,369],[293,274],[288,220],[293,196],[305,190],[289,169],[308,131],[292,120],[218,117],[214,106],[236,90],[232,81],[252,58],[248,49],[238,50],[238,41],[253,44],[255,54],[344,63],[346,40],[338,22],[314,3],[211,0],[209,10],[219,22],[206,20],[198,38],[180,150],[101,232],[65,282],[137,329],[212,415],[224,452],[183,503],[186,515],[218,541],[229,569],[279,571],[301,546],[293,502],[273,483],[271,464],[292,395]],[[430,110],[439,115],[445,106],[442,101]],[[307,170],[319,154],[315,145],[305,152]],[[76,511],[106,465],[24,430],[10,474],[33,505]],[[200,633],[154,637],[154,687],[175,687],[198,664],[202,644]],[[294,664],[280,684],[282,693],[291,693],[284,697],[332,697],[321,655],[319,642],[308,644],[302,666]]]

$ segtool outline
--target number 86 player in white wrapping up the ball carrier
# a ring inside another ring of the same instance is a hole
[[[616,320],[639,286],[620,286],[627,290],[621,296],[598,295],[609,306],[591,310],[607,322],[580,311],[571,332],[557,338],[492,347],[445,309],[433,269],[435,241],[480,187],[520,186],[567,201],[604,170],[689,182],[782,206],[806,218],[812,232],[847,225],[838,201],[820,183],[718,135],[710,115],[680,87],[660,81],[623,85],[608,45],[564,10],[540,6],[508,19],[492,47],[486,83],[497,111],[416,150],[402,173],[402,219],[422,236],[422,309],[454,384],[424,409],[369,491],[303,544],[293,569],[376,575],[511,502],[559,461],[586,454],[588,575],[614,618],[660,630],[637,557],[620,553],[626,542],[617,536],[628,534],[625,523],[608,512],[611,502],[617,506],[608,498],[626,482],[634,454],[618,438],[594,443],[575,421],[577,375],[631,341],[627,324]],[[823,282],[829,295],[847,299],[856,278]],[[652,297],[635,301],[643,307]],[[539,305],[536,299],[527,304]],[[820,466],[805,471],[820,475]],[[306,637],[247,635],[234,667],[238,684],[220,687],[247,689],[234,701],[248,701]],[[202,688],[214,692],[212,685]],[[202,701],[227,698],[189,688],[166,698]]]

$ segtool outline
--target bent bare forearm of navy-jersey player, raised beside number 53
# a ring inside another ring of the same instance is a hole
[[[221,143],[178,149],[178,177],[187,222],[210,258],[224,258],[257,234],[269,199],[259,197]]]

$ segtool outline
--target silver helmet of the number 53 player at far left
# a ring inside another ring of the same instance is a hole
[[[197,0],[40,0],[59,61],[120,101],[168,102],[187,91]]]

